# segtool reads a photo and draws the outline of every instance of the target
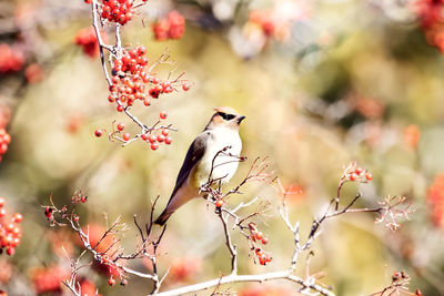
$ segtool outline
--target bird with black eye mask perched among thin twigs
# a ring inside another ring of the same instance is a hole
[[[239,157],[242,151],[239,127],[245,116],[229,106],[214,108],[214,111],[203,132],[191,143],[170,201],[155,224],[164,225],[179,207],[200,197],[200,187],[209,181],[210,174],[212,180],[224,184],[236,172],[239,159],[233,157]],[[220,153],[223,150],[224,153]]]

